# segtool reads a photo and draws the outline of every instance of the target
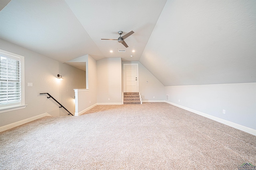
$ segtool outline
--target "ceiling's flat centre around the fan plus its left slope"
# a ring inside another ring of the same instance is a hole
[[[12,0],[0,12],[0,38],[63,63],[86,54],[96,60],[122,57],[138,61],[165,2]],[[101,40],[117,39],[118,31],[124,35],[132,30],[135,33],[125,39],[128,48],[117,41]],[[118,49],[127,52],[120,54]]]

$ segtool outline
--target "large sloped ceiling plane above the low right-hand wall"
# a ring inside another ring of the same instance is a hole
[[[164,86],[256,82],[256,1],[168,0],[140,63]]]

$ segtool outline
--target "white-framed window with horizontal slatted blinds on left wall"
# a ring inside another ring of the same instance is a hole
[[[24,105],[24,57],[0,50],[0,112]]]

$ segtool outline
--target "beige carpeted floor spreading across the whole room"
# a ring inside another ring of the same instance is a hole
[[[0,133],[0,170],[238,170],[256,136],[166,103],[96,106]]]

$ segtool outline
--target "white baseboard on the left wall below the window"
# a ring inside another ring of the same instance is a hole
[[[17,126],[23,125],[25,123],[28,123],[30,121],[34,121],[36,119],[40,119],[40,118],[45,117],[45,116],[50,116],[50,114],[49,113],[43,113],[43,114],[36,115],[36,116],[30,117],[30,118],[27,118],[27,119],[23,119],[21,121],[16,121],[14,123],[10,123],[8,125],[1,126],[0,127],[0,132],[6,131],[6,130],[11,129],[13,127],[17,127]]]

